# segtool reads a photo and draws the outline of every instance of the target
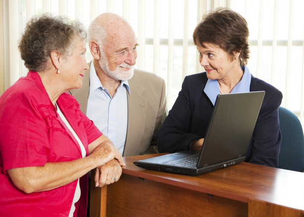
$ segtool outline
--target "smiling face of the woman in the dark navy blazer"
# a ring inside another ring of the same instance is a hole
[[[230,56],[218,45],[213,43],[203,43],[203,46],[197,46],[200,57],[200,64],[207,72],[208,79],[219,80],[228,79],[233,76],[235,65],[239,64],[237,59],[231,61]],[[239,53],[234,54],[236,57]]]

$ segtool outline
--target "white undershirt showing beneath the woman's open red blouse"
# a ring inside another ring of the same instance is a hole
[[[76,132],[73,130],[73,128],[71,127],[70,123],[68,122],[68,120],[64,117],[64,115],[62,114],[61,110],[59,109],[59,106],[56,104],[57,107],[57,113],[59,115],[59,117],[61,118],[61,120],[65,123],[65,127],[68,128],[68,130],[70,130],[72,132],[72,134],[74,135],[74,137],[76,138],[76,140],[78,141],[79,145],[80,145],[80,149],[81,149],[81,153],[82,153],[82,157],[86,157],[86,149],[84,144],[82,143],[82,141],[79,139],[78,135],[76,134]],[[75,190],[75,194],[74,194],[74,199],[72,202],[72,206],[71,206],[71,210],[70,210],[70,214],[69,217],[73,217],[74,211],[75,211],[75,203],[77,203],[77,201],[80,199],[80,195],[81,195],[81,190],[80,190],[80,185],[79,185],[79,178],[77,180],[77,187]]]

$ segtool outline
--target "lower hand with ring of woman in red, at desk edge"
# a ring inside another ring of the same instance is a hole
[[[96,187],[102,187],[118,181],[122,174],[121,165],[116,159],[96,168],[94,181]]]

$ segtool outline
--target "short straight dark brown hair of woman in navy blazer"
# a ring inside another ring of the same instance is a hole
[[[241,51],[241,66],[247,64],[249,58],[248,37],[249,29],[245,18],[223,7],[206,12],[193,32],[196,46],[204,47],[203,43],[216,44],[229,54],[231,60],[235,58],[233,51]]]

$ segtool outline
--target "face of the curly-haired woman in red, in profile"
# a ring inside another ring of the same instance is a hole
[[[75,50],[72,54],[63,58],[59,67],[61,80],[67,89],[82,87],[85,71],[88,70],[85,41],[77,38],[74,40],[74,45],[76,45]]]

